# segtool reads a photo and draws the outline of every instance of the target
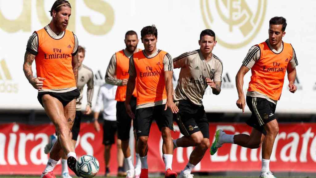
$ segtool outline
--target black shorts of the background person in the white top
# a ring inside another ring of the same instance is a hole
[[[118,129],[116,121],[108,121],[104,120],[103,124],[103,144],[104,145],[112,145],[115,143],[115,133]]]

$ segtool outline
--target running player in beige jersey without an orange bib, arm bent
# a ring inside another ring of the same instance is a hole
[[[179,108],[176,122],[184,135],[173,140],[174,148],[194,146],[189,162],[180,172],[180,178],[192,178],[192,169],[210,147],[209,122],[202,103],[207,86],[213,94],[221,92],[222,61],[212,53],[216,46],[214,31],[205,29],[198,41],[200,49],[173,59],[173,67],[181,68],[173,100]]]

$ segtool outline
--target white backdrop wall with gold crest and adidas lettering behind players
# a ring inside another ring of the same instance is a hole
[[[22,70],[28,37],[50,22],[52,0],[0,0],[0,109],[42,109],[37,91]],[[158,48],[172,57],[199,48],[199,34],[210,28],[218,43],[214,48],[223,62],[220,95],[209,89],[203,102],[206,111],[240,112],[235,75],[248,49],[268,38],[269,20],[284,16],[288,26],[283,41],[295,48],[299,66],[298,91],[288,91],[285,77],[277,112],[316,113],[316,1],[273,0],[70,0],[72,15],[69,28],[86,47],[85,65],[95,74],[95,92],[102,85],[108,62],[114,52],[125,48],[127,30],[140,30],[155,24]],[[140,42],[140,48],[143,44]],[[35,63],[35,62],[34,62]],[[34,66],[35,67],[35,66]],[[35,72],[35,68],[33,70]],[[178,78],[179,70],[175,70]],[[246,91],[250,72],[245,76]],[[93,99],[95,102],[95,97]],[[83,106],[86,103],[84,95]],[[249,112],[249,110],[246,110]]]

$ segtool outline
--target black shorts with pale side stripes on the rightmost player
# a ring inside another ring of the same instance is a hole
[[[267,99],[258,97],[246,97],[247,105],[251,111],[251,117],[246,123],[266,135],[264,124],[276,119],[274,112],[276,105]]]

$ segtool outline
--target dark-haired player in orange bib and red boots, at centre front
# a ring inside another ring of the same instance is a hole
[[[140,178],[148,178],[147,141],[153,120],[156,121],[163,139],[165,177],[175,178],[177,173],[172,170],[173,144],[170,129],[172,129],[172,113],[178,112],[178,108],[172,99],[173,64],[172,58],[167,52],[157,49],[157,35],[158,32],[154,25],[141,30],[141,40],[145,49],[131,56],[125,107],[127,113],[131,118],[135,118],[137,124],[137,147],[141,160]],[[135,85],[137,106],[134,116],[130,101]]]

